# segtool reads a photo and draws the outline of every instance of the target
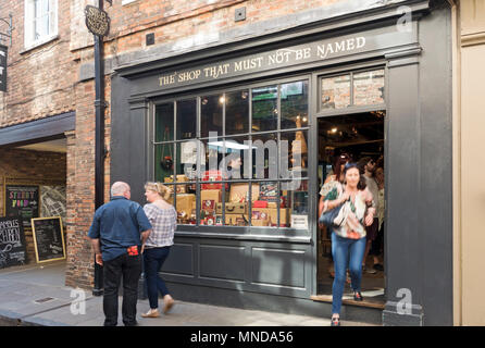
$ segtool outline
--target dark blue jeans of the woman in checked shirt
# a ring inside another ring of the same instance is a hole
[[[170,247],[150,248],[144,251],[145,281],[148,301],[151,309],[159,308],[159,290],[162,296],[169,294],[165,282],[159,276],[160,269],[169,256]]]

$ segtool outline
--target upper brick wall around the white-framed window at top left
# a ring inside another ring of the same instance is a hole
[[[59,0],[58,7],[59,38],[25,51],[24,0],[0,1],[0,17],[14,14],[8,52],[8,91],[0,92],[0,127],[74,110],[77,63],[69,50],[70,1]],[[1,26],[2,32],[4,27]]]

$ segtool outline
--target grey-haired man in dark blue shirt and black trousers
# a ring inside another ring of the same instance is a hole
[[[117,324],[117,294],[123,275],[123,323],[136,325],[138,279],[141,275],[141,252],[151,232],[144,209],[130,201],[129,185],[116,182],[111,186],[111,201],[95,213],[88,237],[91,238],[96,263],[103,265],[104,326]]]

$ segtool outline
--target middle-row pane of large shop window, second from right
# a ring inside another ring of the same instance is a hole
[[[260,134],[252,136],[252,177],[277,178],[277,135]]]

